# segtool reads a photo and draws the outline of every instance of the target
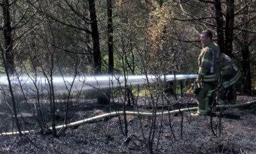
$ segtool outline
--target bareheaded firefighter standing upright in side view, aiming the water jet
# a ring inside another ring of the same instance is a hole
[[[207,115],[210,106],[213,105],[214,92],[218,76],[220,74],[220,48],[212,42],[212,31],[205,30],[201,32],[200,40],[203,49],[198,58],[199,70],[195,82],[199,85],[196,94],[198,109],[191,116]]]

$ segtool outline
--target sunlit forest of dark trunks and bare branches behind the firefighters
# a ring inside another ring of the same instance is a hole
[[[58,103],[63,102],[65,108],[65,120],[60,121],[67,124],[73,108],[84,98],[77,90],[79,97],[74,100],[69,88],[63,98],[55,97],[53,76],[195,74],[201,50],[199,34],[205,29],[214,33],[214,42],[243,72],[238,92],[251,95],[256,90],[255,0],[0,0],[0,7],[0,73],[8,80],[8,84],[0,83],[4,96],[0,105],[11,114],[12,131],[20,135],[28,125],[20,118],[21,106],[32,110],[35,128],[41,133],[50,131],[59,137],[67,130],[55,130]],[[33,102],[24,90],[22,100],[15,98],[11,76],[22,75],[46,78],[46,102],[38,89]],[[123,97],[119,100],[122,110],[136,101],[131,100],[133,91],[137,96],[150,95],[148,102],[156,112],[163,84],[147,86],[139,91],[125,85],[114,91],[115,96]],[[120,125],[127,137],[125,115]],[[151,131],[156,125],[156,121],[150,125],[148,143],[143,137],[150,153],[155,148]],[[0,131],[6,132],[2,127]]]

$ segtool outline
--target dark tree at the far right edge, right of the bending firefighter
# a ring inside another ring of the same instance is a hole
[[[242,72],[243,72],[243,94],[251,94],[252,90],[252,76],[251,76],[251,51],[250,46],[255,42],[256,31],[251,29],[255,27],[256,9],[253,1],[238,1],[237,5],[240,5],[241,9],[238,9],[235,13],[239,19],[238,24],[234,26],[236,31],[235,42],[239,44],[236,46],[238,52],[234,52],[234,56],[238,55],[238,60],[241,60]],[[239,58],[241,56],[241,58]]]

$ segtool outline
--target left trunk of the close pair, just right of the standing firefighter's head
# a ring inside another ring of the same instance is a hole
[[[216,11],[216,23],[217,23],[217,37],[218,37],[218,45],[220,46],[220,51],[225,51],[224,44],[224,23],[222,17],[222,4],[220,0],[216,0],[215,3],[215,11]]]

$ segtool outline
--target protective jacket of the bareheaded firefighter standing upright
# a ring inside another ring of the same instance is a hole
[[[198,58],[198,77],[203,82],[214,82],[220,74],[220,48],[217,44],[209,42],[203,44],[203,49]]]

